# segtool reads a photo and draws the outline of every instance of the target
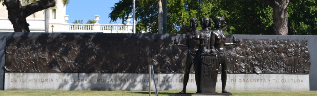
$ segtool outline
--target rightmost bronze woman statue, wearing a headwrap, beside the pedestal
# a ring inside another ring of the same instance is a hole
[[[226,24],[225,27],[221,28],[223,22]],[[226,91],[226,82],[227,82],[227,52],[225,46],[235,45],[237,40],[235,36],[233,36],[233,43],[226,43],[225,40],[227,38],[226,34],[223,32],[229,26],[229,18],[228,23],[223,20],[223,17],[217,17],[214,19],[216,30],[212,30],[211,32],[211,41],[210,46],[213,49],[217,50],[217,60],[218,65],[217,68],[221,65],[221,80],[222,80],[222,93],[229,93]]]

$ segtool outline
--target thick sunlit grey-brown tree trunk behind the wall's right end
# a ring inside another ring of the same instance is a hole
[[[273,31],[275,35],[288,35],[288,12],[289,0],[262,0],[273,8]]]

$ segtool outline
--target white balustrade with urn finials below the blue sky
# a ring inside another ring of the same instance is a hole
[[[131,24],[62,24],[64,32],[132,33]],[[113,27],[111,30],[111,26]]]

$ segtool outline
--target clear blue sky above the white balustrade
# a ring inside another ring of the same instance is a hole
[[[111,7],[119,0],[70,0],[66,6],[66,15],[69,15],[68,23],[75,20],[83,20],[86,23],[89,19],[94,20],[95,15],[99,15],[100,24],[110,24],[108,15],[111,13]],[[119,24],[121,21],[111,22],[111,24]]]

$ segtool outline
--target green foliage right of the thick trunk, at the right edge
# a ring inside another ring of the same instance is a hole
[[[317,35],[317,0],[291,0],[288,6],[290,35]]]

